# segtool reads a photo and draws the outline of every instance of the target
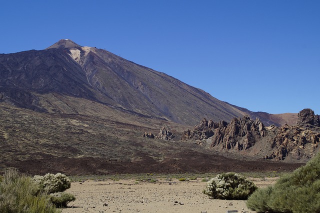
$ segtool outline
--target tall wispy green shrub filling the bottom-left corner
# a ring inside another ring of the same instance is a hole
[[[1,213],[55,213],[60,212],[46,194],[39,193],[39,187],[31,177],[16,169],[5,171],[0,182]]]

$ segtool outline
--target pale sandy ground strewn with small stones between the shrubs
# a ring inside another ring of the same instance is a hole
[[[273,184],[275,178],[253,179],[258,187]],[[71,212],[255,212],[244,200],[211,199],[202,193],[206,182],[190,181],[136,182],[135,180],[106,180],[72,182],[67,192],[75,201],[63,208]],[[237,210],[237,211],[231,211]]]

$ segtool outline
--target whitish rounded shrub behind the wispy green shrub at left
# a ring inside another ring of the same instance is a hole
[[[33,180],[40,186],[41,190],[47,193],[62,192],[71,186],[70,179],[61,173],[47,173],[44,176],[34,175]]]

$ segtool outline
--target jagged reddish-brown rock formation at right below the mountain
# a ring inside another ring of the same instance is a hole
[[[230,123],[217,123],[203,118],[200,124],[194,126],[194,130],[184,131],[181,139],[209,139],[211,148],[219,147],[239,153],[255,145],[269,147],[269,150],[263,150],[267,153],[264,159],[283,160],[287,156],[294,160],[308,159],[318,151],[319,126],[319,116],[311,109],[303,109],[298,113],[296,125],[285,124],[280,127],[265,127],[258,118],[252,120],[248,115],[233,118]],[[263,146],[265,143],[266,146]]]

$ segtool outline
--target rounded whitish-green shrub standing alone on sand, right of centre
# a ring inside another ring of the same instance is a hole
[[[256,188],[252,181],[228,172],[211,178],[203,193],[215,199],[246,199]]]

